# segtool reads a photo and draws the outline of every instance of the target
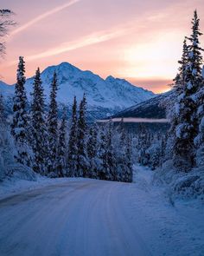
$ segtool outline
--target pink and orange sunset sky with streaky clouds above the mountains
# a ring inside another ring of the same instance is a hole
[[[37,67],[70,62],[161,93],[176,75],[194,9],[204,32],[203,0],[0,0],[0,9],[16,13],[0,62],[10,84],[24,56],[27,77]]]

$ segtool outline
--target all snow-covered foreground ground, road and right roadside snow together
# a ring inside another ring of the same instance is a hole
[[[174,204],[153,172],[135,182],[38,178],[0,184],[0,255],[204,255],[204,206]]]

